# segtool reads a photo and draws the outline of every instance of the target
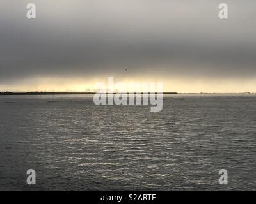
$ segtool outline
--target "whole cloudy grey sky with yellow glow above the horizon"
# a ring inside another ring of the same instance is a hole
[[[28,3],[36,19],[26,18]],[[0,91],[92,91],[114,77],[163,82],[164,92],[256,92],[255,8],[255,0],[0,0]]]

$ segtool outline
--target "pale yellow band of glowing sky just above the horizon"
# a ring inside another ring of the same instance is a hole
[[[108,86],[108,77],[38,77],[26,79],[23,81],[13,82],[12,84],[0,85],[0,91],[27,92],[27,91],[42,91],[42,92],[94,92],[95,83],[104,82]],[[162,82],[164,92],[185,92],[185,93],[200,93],[200,92],[256,92],[256,79],[241,80],[241,79],[224,79],[220,78],[188,78],[188,77],[114,77],[114,83],[124,82],[129,84],[141,84],[143,82]],[[19,87],[19,88],[17,88]],[[115,89],[118,91],[118,89]],[[128,92],[128,90],[127,90]]]

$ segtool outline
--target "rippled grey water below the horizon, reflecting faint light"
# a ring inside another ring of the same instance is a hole
[[[256,95],[165,95],[162,112],[0,96],[0,190],[255,191]]]

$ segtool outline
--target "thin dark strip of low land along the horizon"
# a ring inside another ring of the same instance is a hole
[[[96,92],[38,92],[38,91],[33,91],[33,92],[0,92],[0,95],[3,96],[8,96],[8,95],[92,95],[92,94],[96,94]],[[106,93],[108,94],[108,93]],[[116,92],[114,92],[113,94],[116,94]],[[128,92],[124,94],[129,94]],[[136,94],[134,92],[134,94]],[[141,94],[143,94],[143,92],[141,92]],[[148,93],[150,94],[150,93]],[[178,94],[177,92],[163,92],[163,94]]]

